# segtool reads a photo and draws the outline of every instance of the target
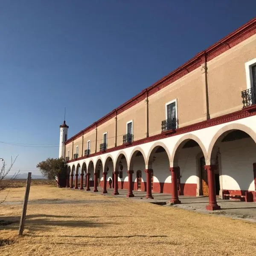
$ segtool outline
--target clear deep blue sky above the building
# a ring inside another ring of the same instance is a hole
[[[36,170],[58,157],[64,106],[71,137],[255,10],[255,0],[0,0],[0,141],[41,146],[0,143],[0,157]]]

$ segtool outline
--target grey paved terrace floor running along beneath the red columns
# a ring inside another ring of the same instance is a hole
[[[90,187],[90,191],[82,190],[81,192],[92,192],[96,194],[102,194],[102,187],[98,187],[99,192],[93,192],[93,187]],[[105,196],[113,196],[112,193],[114,189],[107,189],[108,194],[104,194]],[[119,195],[115,195],[115,197],[126,197],[128,190],[127,189],[119,189]],[[134,198],[128,198],[128,200],[137,200],[148,202],[151,204],[159,204],[163,206],[170,206],[168,201],[172,198],[172,195],[165,193],[152,193],[154,199],[146,199],[146,192],[142,191],[133,191]],[[256,222],[256,203],[255,202],[241,202],[241,201],[233,201],[233,200],[222,200],[217,196],[218,205],[221,207],[221,210],[208,211],[205,209],[208,204],[207,196],[186,196],[180,195],[179,199],[181,204],[173,205],[172,207],[178,207],[182,209],[192,210],[196,212],[206,213],[206,214],[215,214],[215,215],[225,215],[231,218],[242,218],[247,221]]]

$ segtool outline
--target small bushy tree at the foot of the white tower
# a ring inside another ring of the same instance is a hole
[[[56,180],[60,187],[60,180],[66,178],[66,162],[64,158],[47,158],[36,166],[44,177],[49,180]]]

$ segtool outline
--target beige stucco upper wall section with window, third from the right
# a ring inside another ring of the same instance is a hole
[[[126,123],[133,121],[134,140],[146,137],[146,102],[143,100],[135,106],[117,115],[117,145],[123,144]]]

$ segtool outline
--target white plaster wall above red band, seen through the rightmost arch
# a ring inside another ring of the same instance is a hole
[[[223,142],[220,146],[223,189],[255,191],[253,163],[256,144],[250,138]]]

